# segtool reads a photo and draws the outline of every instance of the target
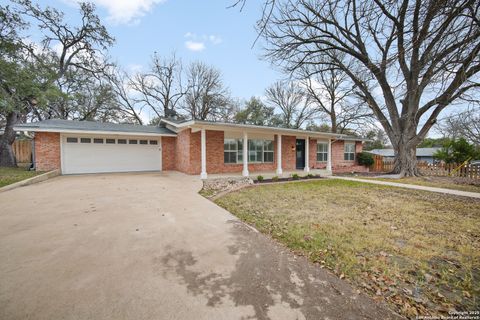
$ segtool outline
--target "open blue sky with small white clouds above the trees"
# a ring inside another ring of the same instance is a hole
[[[260,1],[228,8],[235,0],[90,0],[116,39],[110,56],[127,71],[146,70],[154,52],[175,53],[185,64],[202,61],[218,68],[233,97],[262,96],[266,87],[283,77],[261,59],[262,48],[252,45],[261,15]],[[39,1],[78,19],[74,0]]]

